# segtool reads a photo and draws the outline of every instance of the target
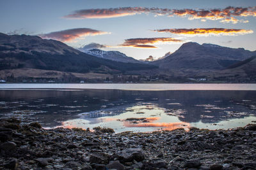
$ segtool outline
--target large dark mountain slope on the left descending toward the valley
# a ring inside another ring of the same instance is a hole
[[[140,63],[124,63],[102,59],[80,52],[65,43],[38,36],[0,33],[0,69],[33,68],[74,73],[125,72],[152,69]]]

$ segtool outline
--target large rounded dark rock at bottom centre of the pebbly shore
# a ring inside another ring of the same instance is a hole
[[[145,155],[141,148],[128,148],[118,153],[118,159],[122,162],[141,161],[145,159]]]

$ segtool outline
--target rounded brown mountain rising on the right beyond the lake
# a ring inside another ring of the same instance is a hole
[[[212,44],[184,43],[180,48],[152,64],[162,69],[218,70],[256,55],[244,48],[228,48]]]

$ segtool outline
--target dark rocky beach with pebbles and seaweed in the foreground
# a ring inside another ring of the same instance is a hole
[[[0,120],[0,169],[255,169],[256,124],[152,133]]]

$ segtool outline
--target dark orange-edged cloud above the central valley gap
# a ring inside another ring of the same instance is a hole
[[[127,46],[134,48],[157,48],[154,44],[157,43],[180,43],[183,40],[175,38],[130,38],[125,39],[125,42],[119,46]]]

